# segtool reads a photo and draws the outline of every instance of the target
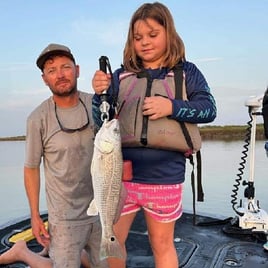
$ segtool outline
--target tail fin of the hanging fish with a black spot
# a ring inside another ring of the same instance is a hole
[[[101,243],[100,259],[103,260],[109,257],[126,259],[126,253],[115,236],[105,239],[105,241]]]

